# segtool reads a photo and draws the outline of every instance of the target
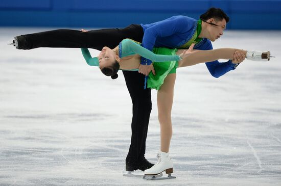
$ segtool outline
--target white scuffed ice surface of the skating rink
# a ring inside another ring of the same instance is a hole
[[[281,185],[281,31],[226,31],[214,48],[270,50],[220,78],[178,69],[172,180],[123,177],[132,105],[124,77],[88,66],[80,49],[17,50],[0,29],[0,185]],[[92,55],[97,51],[90,50]],[[159,149],[156,91],[146,157]]]

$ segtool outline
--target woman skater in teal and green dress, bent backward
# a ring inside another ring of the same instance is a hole
[[[215,61],[218,59],[234,60],[237,52],[242,52],[247,59],[253,61],[270,60],[269,51],[240,50],[235,48],[219,48],[213,50],[193,50],[194,44],[188,50],[154,48],[153,52],[142,47],[141,43],[131,39],[124,39],[113,49],[103,47],[98,58],[91,58],[87,48],[81,48],[84,59],[88,65],[99,66],[101,71],[112,78],[116,78],[121,70],[137,70],[140,58],[152,60],[155,73],[149,74],[148,88],[157,91],[158,120],[160,123],[160,152],[157,155],[157,163],[145,170],[145,175],[157,175],[163,171],[173,173],[173,163],[169,157],[169,147],[172,138],[171,111],[173,104],[176,69]],[[158,63],[161,62],[161,63]],[[236,63],[233,61],[233,63]]]

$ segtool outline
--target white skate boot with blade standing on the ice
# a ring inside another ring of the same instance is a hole
[[[162,173],[163,171],[166,171],[166,174],[169,174],[169,176],[168,177],[155,177],[155,175],[158,175],[158,174]],[[176,178],[175,176],[171,176],[171,173],[173,173],[173,162],[171,161],[171,158],[168,153],[160,151],[157,154],[157,163],[150,169],[145,170],[144,179]],[[147,176],[152,176],[152,178],[147,178]]]

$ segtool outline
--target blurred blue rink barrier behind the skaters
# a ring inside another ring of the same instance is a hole
[[[227,13],[227,29],[281,29],[281,0],[1,0],[0,26],[122,28],[173,15],[198,19],[210,7]]]

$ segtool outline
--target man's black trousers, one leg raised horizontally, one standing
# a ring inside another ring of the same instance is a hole
[[[131,24],[124,29],[102,29],[89,32],[61,29],[24,36],[28,49],[63,47],[101,50],[104,46],[114,48],[126,38],[142,42],[144,32],[140,25]],[[147,130],[151,113],[151,90],[144,90],[145,76],[143,74],[137,71],[123,71],[123,74],[133,103],[132,137],[126,163],[137,164],[144,157],[146,150]]]

